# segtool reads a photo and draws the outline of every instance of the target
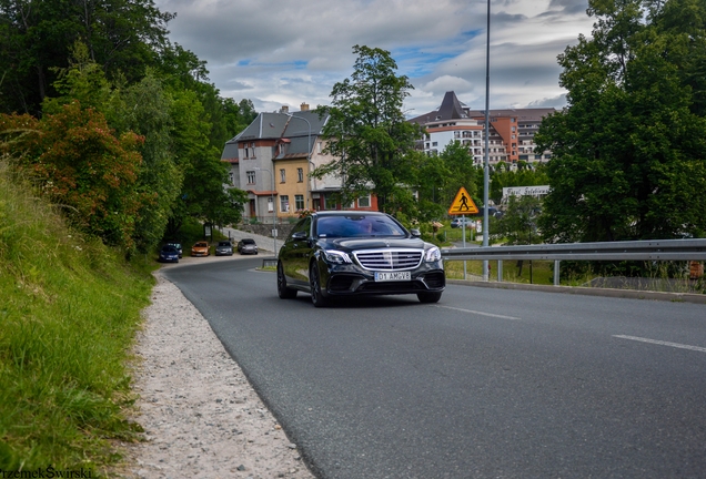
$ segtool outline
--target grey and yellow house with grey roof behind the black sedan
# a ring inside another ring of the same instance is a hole
[[[231,185],[248,192],[244,217],[269,222],[275,216],[281,222],[301,210],[377,210],[373,195],[341,205],[341,179],[335,175],[311,177],[313,170],[333,160],[321,139],[326,120],[305,103],[294,113],[283,106],[260,113],[225,143],[221,160],[231,164]]]

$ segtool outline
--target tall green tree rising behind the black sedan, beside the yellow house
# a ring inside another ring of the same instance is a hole
[[[333,86],[331,106],[317,108],[330,115],[322,136],[335,160],[314,175],[341,175],[344,202],[372,191],[380,210],[397,211],[410,204],[415,179],[405,155],[422,135],[402,112],[413,86],[406,77],[395,74],[390,52],[355,45],[353,53],[357,54],[353,74]]]

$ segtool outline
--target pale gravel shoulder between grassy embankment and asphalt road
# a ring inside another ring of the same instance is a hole
[[[208,320],[160,272],[155,277],[134,350],[133,420],[143,440],[122,445],[115,475],[313,478]]]

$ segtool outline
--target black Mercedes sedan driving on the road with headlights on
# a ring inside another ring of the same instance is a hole
[[[436,303],[446,286],[441,251],[377,212],[317,212],[300,220],[278,257],[278,293],[336,296],[416,294]]]

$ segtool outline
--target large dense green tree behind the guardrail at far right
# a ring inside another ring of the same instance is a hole
[[[552,242],[706,235],[706,4],[591,0],[588,13],[593,39],[559,55],[568,106],[536,136],[537,150],[553,152],[543,233]]]

